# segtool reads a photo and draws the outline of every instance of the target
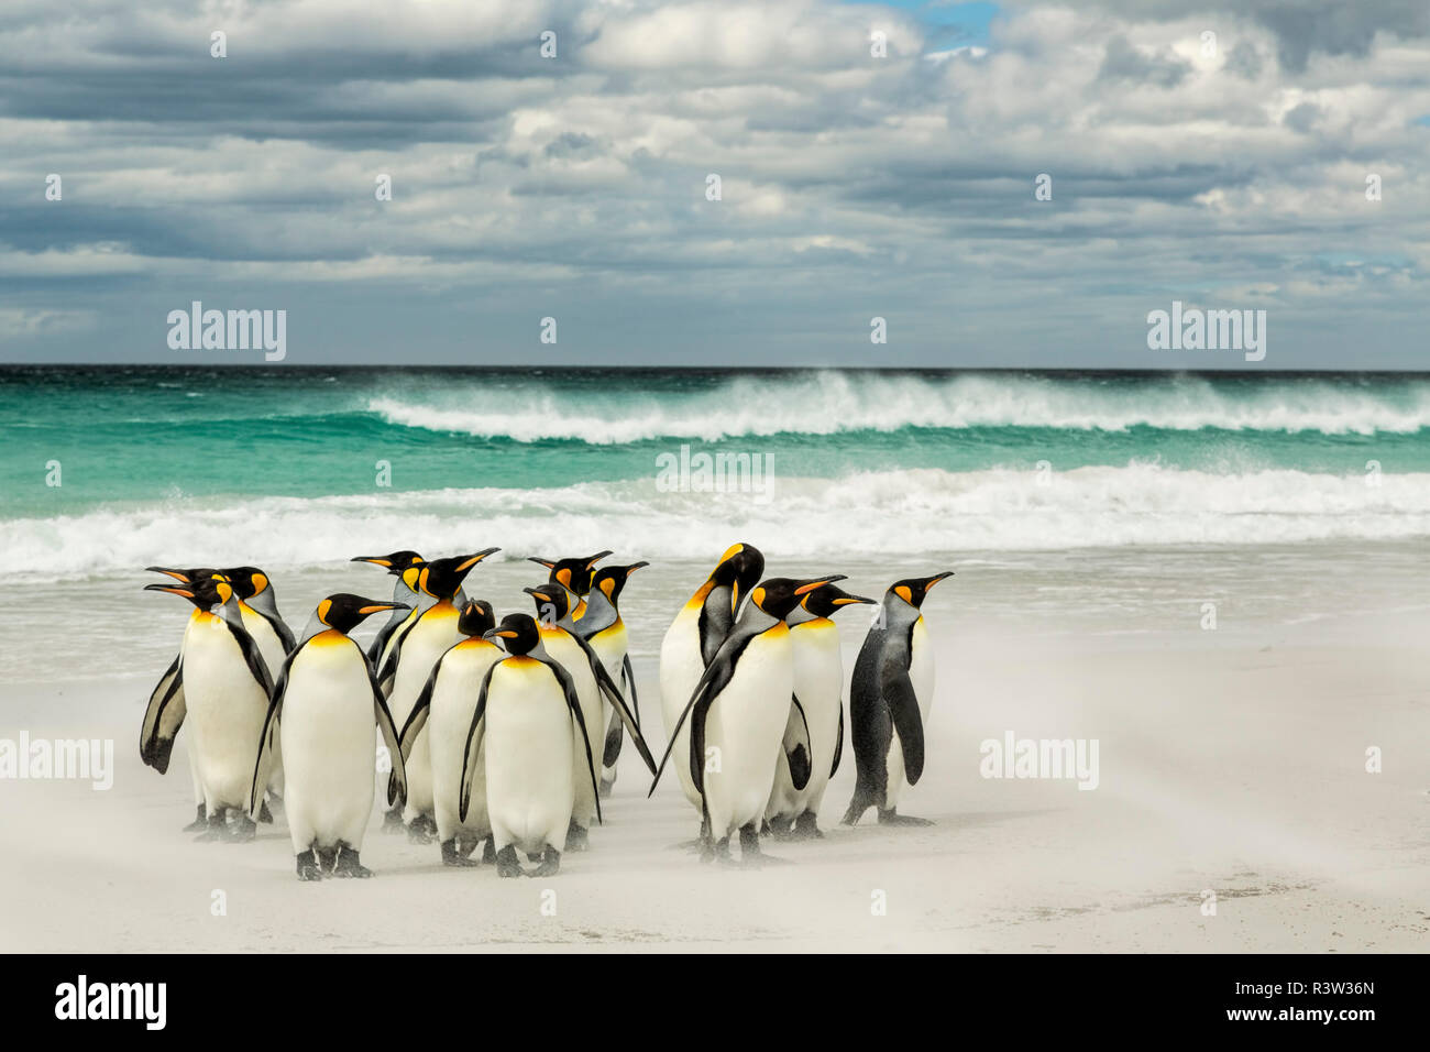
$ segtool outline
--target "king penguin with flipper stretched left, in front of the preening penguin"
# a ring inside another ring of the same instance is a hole
[[[807,581],[774,577],[756,585],[676,720],[672,749],[681,724],[689,720],[689,753],[682,760],[701,794],[708,830],[702,860],[728,862],[729,837],[739,830],[741,863],[759,862],[759,822],[794,697],[785,617],[811,591],[839,580],[841,574]],[[808,734],[799,747],[812,751]],[[661,770],[672,749],[666,749]],[[656,773],[652,793],[659,780]]]

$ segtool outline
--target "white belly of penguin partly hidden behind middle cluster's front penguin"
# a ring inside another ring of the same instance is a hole
[[[462,803],[462,766],[466,761],[466,736],[472,729],[476,700],[488,670],[505,654],[490,643],[469,640],[448,651],[442,671],[432,688],[426,739],[432,759],[432,806],[438,837],[443,842],[458,830],[485,837],[492,826],[486,817],[486,750],[482,749],[472,771],[472,799],[466,822],[458,817]]]

